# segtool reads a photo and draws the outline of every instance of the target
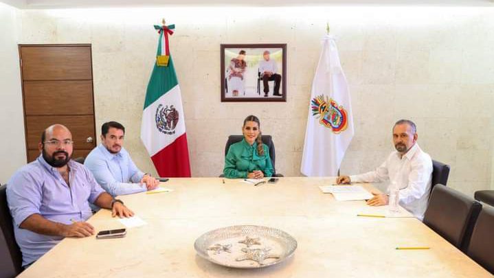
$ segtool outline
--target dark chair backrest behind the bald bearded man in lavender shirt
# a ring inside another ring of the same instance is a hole
[[[15,277],[22,269],[21,249],[14,236],[12,216],[7,205],[7,186],[0,186],[0,277]]]

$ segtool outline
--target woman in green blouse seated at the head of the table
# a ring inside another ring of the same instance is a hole
[[[223,174],[227,178],[263,178],[273,175],[269,148],[262,143],[259,119],[250,115],[242,127],[244,138],[232,144],[225,157]]]

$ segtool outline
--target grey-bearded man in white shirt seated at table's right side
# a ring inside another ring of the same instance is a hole
[[[420,149],[416,126],[412,121],[401,119],[393,127],[396,152],[375,171],[357,176],[339,176],[337,183],[380,183],[394,181],[400,188],[400,205],[422,220],[424,217],[432,181],[432,160]],[[388,192],[390,188],[388,187]],[[368,205],[388,205],[388,194],[374,194]]]

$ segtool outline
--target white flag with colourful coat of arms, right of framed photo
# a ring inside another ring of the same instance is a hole
[[[350,103],[335,36],[326,35],[322,40],[308,107],[302,174],[337,176],[354,134]]]

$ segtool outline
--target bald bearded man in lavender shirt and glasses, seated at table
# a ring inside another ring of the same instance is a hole
[[[71,161],[72,143],[65,126],[50,126],[38,144],[38,159],[8,181],[7,200],[25,268],[64,237],[95,233],[85,222],[92,216],[89,202],[111,209],[112,216],[133,216],[122,201],[104,192],[86,167]]]

